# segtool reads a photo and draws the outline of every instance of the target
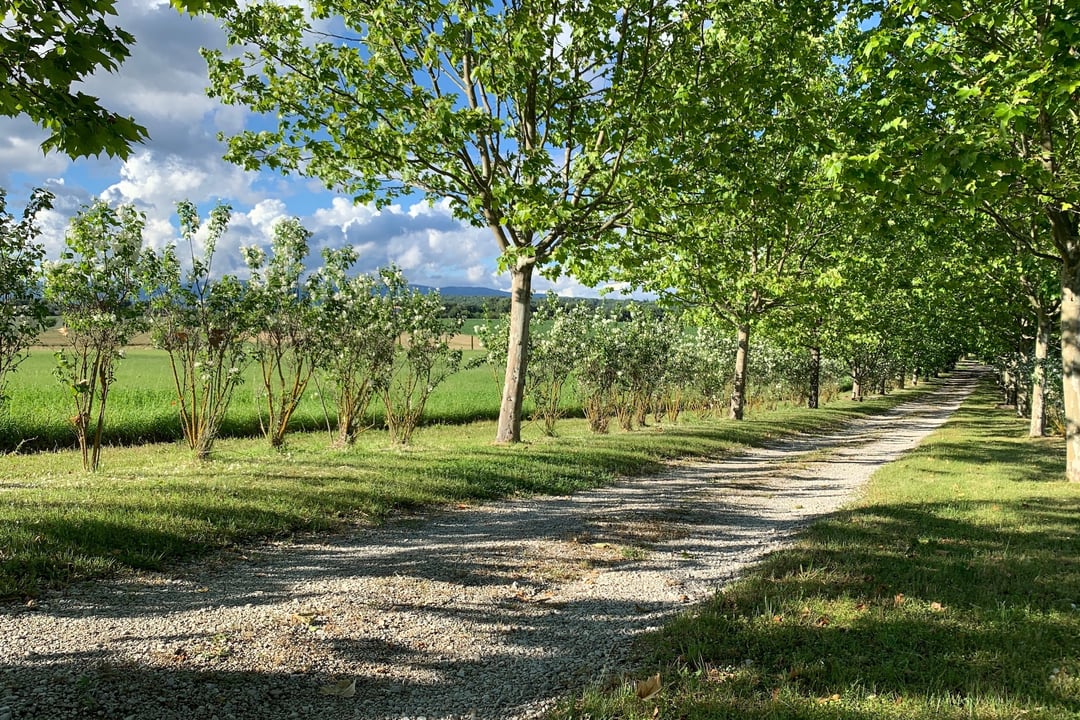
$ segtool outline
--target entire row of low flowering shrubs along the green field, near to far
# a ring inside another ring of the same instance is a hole
[[[392,268],[351,273],[351,249],[324,252],[322,267],[306,270],[309,233],[295,218],[274,226],[269,254],[259,246],[243,249],[248,273],[241,280],[213,273],[229,225],[227,206],[204,220],[194,205],[180,203],[181,242],[152,252],[144,244],[139,213],[98,202],[71,220],[62,257],[45,261],[33,220],[48,203],[46,194],[36,194],[17,221],[0,210],[0,262],[11,280],[0,324],[0,395],[8,373],[51,322],[46,307],[58,311],[67,344],[55,353],[56,376],[70,393],[70,423],[89,470],[99,464],[117,364],[136,332],[148,330],[168,354],[184,438],[200,458],[211,452],[252,363],[261,381],[259,421],[273,447],[284,444],[289,420],[316,378],[336,407],[338,445],[352,443],[376,397],[392,440],[407,443],[430,394],[459,366],[460,353],[447,343],[454,326],[437,294],[409,287]],[[686,408],[712,415],[731,394],[732,375],[744,383],[748,375],[745,366],[737,367],[747,347],[715,323],[696,324],[692,314],[656,303],[605,305],[549,296],[538,320],[526,396],[549,434],[566,411],[570,388],[591,429],[607,432],[612,419],[633,430],[650,416],[674,422]],[[480,335],[486,353],[474,362],[504,367],[505,317],[481,327]],[[815,407],[820,344],[808,352],[785,342],[783,332],[768,335],[767,342],[754,344],[759,392],[772,385],[774,395]],[[919,348],[903,344],[899,335],[843,337],[848,344],[825,347],[832,367],[826,378],[835,386],[838,376],[849,376],[856,397],[864,388],[885,392],[890,383],[903,384]],[[948,353],[955,348],[944,347],[932,359],[947,363]]]

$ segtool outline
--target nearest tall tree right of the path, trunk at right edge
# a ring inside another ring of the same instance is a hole
[[[1061,263],[1066,475],[1080,481],[1080,6],[881,0],[852,13],[867,22],[852,91],[880,133],[849,166],[870,184],[1045,222],[1036,242],[1017,240]]]

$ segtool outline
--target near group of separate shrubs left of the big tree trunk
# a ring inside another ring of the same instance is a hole
[[[48,309],[57,310],[66,345],[55,353],[56,377],[70,392],[86,470],[100,461],[117,363],[140,331],[168,354],[184,438],[199,458],[252,363],[273,447],[284,444],[316,372],[336,407],[339,445],[363,429],[374,398],[392,440],[407,443],[432,391],[460,364],[437,293],[409,287],[394,268],[351,274],[351,249],[324,253],[323,266],[307,272],[310,233],[295,218],[274,226],[269,255],[245,248],[249,274],[241,281],[212,272],[226,206],[203,222],[194,205],[178,205],[181,261],[175,245],[145,246],[145,219],[133,207],[98,202],[72,218],[62,257],[42,261],[33,220],[48,202],[36,194],[17,221],[0,208],[0,402],[9,373],[51,322]]]

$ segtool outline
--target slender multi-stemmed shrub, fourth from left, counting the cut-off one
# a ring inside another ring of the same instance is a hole
[[[273,227],[269,260],[261,247],[244,248],[252,273],[247,312],[253,355],[265,392],[266,416],[259,416],[259,423],[271,447],[284,445],[288,420],[326,352],[319,309],[303,280],[310,236],[297,218],[285,218]]]

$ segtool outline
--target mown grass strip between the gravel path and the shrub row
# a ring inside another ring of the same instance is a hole
[[[71,451],[0,456],[0,597],[33,597],[84,578],[159,569],[234,544],[378,521],[403,510],[518,493],[567,493],[685,456],[715,456],[880,411],[895,393],[816,411],[762,411],[740,423],[686,422],[597,436],[582,420],[557,438],[525,429],[494,446],[492,422],[424,427],[408,448],[381,433],[330,450],[325,433],[285,451],[232,438],[199,463],[180,443],[107,448],[86,475]]]

